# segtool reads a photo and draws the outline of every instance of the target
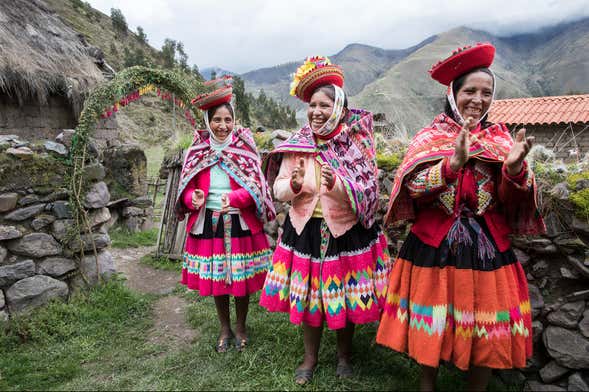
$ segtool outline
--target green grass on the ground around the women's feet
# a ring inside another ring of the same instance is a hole
[[[349,380],[335,377],[335,333],[324,331],[320,364],[310,385],[294,384],[303,356],[302,330],[285,314],[268,313],[252,296],[244,353],[219,355],[218,321],[211,297],[178,287],[190,303],[194,342],[168,348],[149,342],[153,296],[115,280],[69,304],[54,303],[31,318],[11,321],[0,337],[2,390],[415,390],[419,367],[374,343],[375,325],[357,328]],[[439,390],[464,388],[463,374],[442,367]],[[491,390],[505,386],[491,384]],[[515,389],[513,389],[515,390]]]

